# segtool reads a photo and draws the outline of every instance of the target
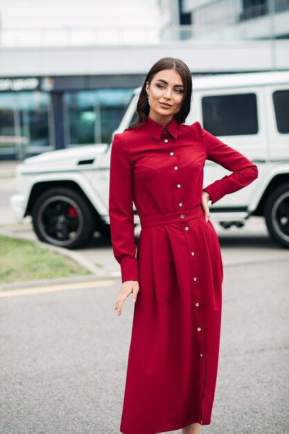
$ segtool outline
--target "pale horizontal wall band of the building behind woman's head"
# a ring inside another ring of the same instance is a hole
[[[184,60],[193,72],[289,69],[289,40],[220,43],[15,48],[0,50],[0,76],[146,73],[165,56]]]

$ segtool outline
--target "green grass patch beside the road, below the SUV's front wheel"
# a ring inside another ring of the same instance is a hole
[[[69,257],[30,241],[0,235],[0,283],[90,275]]]

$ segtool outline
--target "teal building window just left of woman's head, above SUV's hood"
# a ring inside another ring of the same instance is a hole
[[[134,89],[98,89],[64,94],[66,146],[109,143]]]

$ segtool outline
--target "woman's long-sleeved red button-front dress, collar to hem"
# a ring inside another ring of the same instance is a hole
[[[200,207],[206,159],[229,171],[204,189],[211,203],[247,186],[256,165],[202,128],[148,118],[116,134],[110,160],[110,227],[122,281],[138,280],[123,434],[210,424],[222,299],[218,236]],[[134,243],[132,201],[141,232]],[[137,255],[136,255],[137,253]]]

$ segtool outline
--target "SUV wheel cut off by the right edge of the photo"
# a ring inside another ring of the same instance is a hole
[[[289,183],[270,194],[264,211],[266,225],[274,241],[289,248]]]

